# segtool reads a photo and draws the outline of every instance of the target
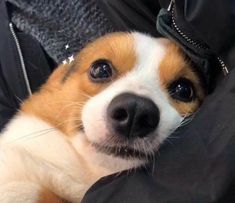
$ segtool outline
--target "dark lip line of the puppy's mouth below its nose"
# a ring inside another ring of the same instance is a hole
[[[149,160],[152,158],[151,154],[144,153],[140,150],[133,149],[128,146],[108,146],[98,143],[92,143],[92,146],[96,148],[97,151],[113,155],[122,159],[140,159],[140,160]]]

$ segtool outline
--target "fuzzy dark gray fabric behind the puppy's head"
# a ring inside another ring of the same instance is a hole
[[[8,1],[13,4],[13,23],[36,38],[57,63],[113,31],[95,0]]]

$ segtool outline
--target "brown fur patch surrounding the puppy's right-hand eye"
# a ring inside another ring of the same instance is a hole
[[[159,67],[159,78],[172,105],[181,115],[191,114],[198,109],[205,96],[201,82],[198,75],[192,70],[190,62],[174,43],[169,43],[167,46],[166,55]],[[184,103],[170,97],[168,86],[179,78],[186,78],[193,83],[197,95],[192,102]]]

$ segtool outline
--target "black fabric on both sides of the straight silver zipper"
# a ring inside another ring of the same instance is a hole
[[[0,131],[15,114],[29,92],[20,63],[16,43],[9,28],[10,6],[0,1]],[[16,28],[24,57],[31,90],[34,92],[45,82],[55,64],[44,54],[39,43]]]

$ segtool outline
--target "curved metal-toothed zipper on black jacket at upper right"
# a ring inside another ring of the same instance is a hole
[[[192,44],[193,46],[197,48],[208,50],[208,48],[204,44],[191,39],[177,26],[176,21],[175,21],[175,0],[170,1],[167,11],[171,12],[172,25],[174,29],[178,32],[178,34],[180,34],[181,37],[183,37],[188,43]],[[222,68],[223,74],[225,76],[228,75],[229,74],[228,67],[225,65],[224,61],[220,57],[217,57],[217,60]]]

